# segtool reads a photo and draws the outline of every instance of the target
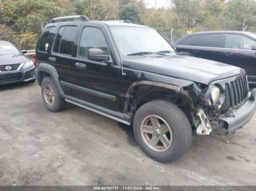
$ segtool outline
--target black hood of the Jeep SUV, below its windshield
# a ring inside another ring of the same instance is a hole
[[[244,73],[244,69],[236,66],[185,55],[170,55],[166,57],[129,56],[124,58],[123,66],[124,68],[188,79],[206,85],[217,79]]]

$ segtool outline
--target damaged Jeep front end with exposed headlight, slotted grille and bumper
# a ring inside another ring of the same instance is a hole
[[[212,82],[202,90],[194,126],[197,135],[209,135],[225,128],[234,133],[252,119],[256,109],[256,89],[249,93],[246,74]]]

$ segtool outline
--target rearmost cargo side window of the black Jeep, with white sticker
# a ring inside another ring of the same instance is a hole
[[[55,26],[50,26],[48,28],[45,28],[45,31],[42,34],[39,42],[39,51],[48,52],[48,48],[51,47],[53,43],[53,39],[56,35],[55,30],[56,30]]]

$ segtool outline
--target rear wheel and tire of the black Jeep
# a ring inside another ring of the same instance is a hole
[[[51,101],[50,99],[48,99],[48,96],[45,95],[45,92],[47,92],[46,94],[48,95],[49,93],[53,95]],[[56,85],[50,77],[45,77],[44,79],[42,79],[41,93],[42,101],[44,102],[47,109],[51,112],[59,112],[65,108],[66,101],[64,101],[64,99],[59,96]]]

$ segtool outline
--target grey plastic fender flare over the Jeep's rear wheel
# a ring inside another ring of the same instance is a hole
[[[59,82],[59,74],[56,71],[56,69],[48,63],[40,63],[38,68],[36,69],[36,79],[37,83],[40,86],[42,84],[42,77],[44,77],[45,74],[49,75],[53,79],[54,84],[56,85],[57,90],[59,92],[59,95],[64,95],[64,91],[62,90]]]

